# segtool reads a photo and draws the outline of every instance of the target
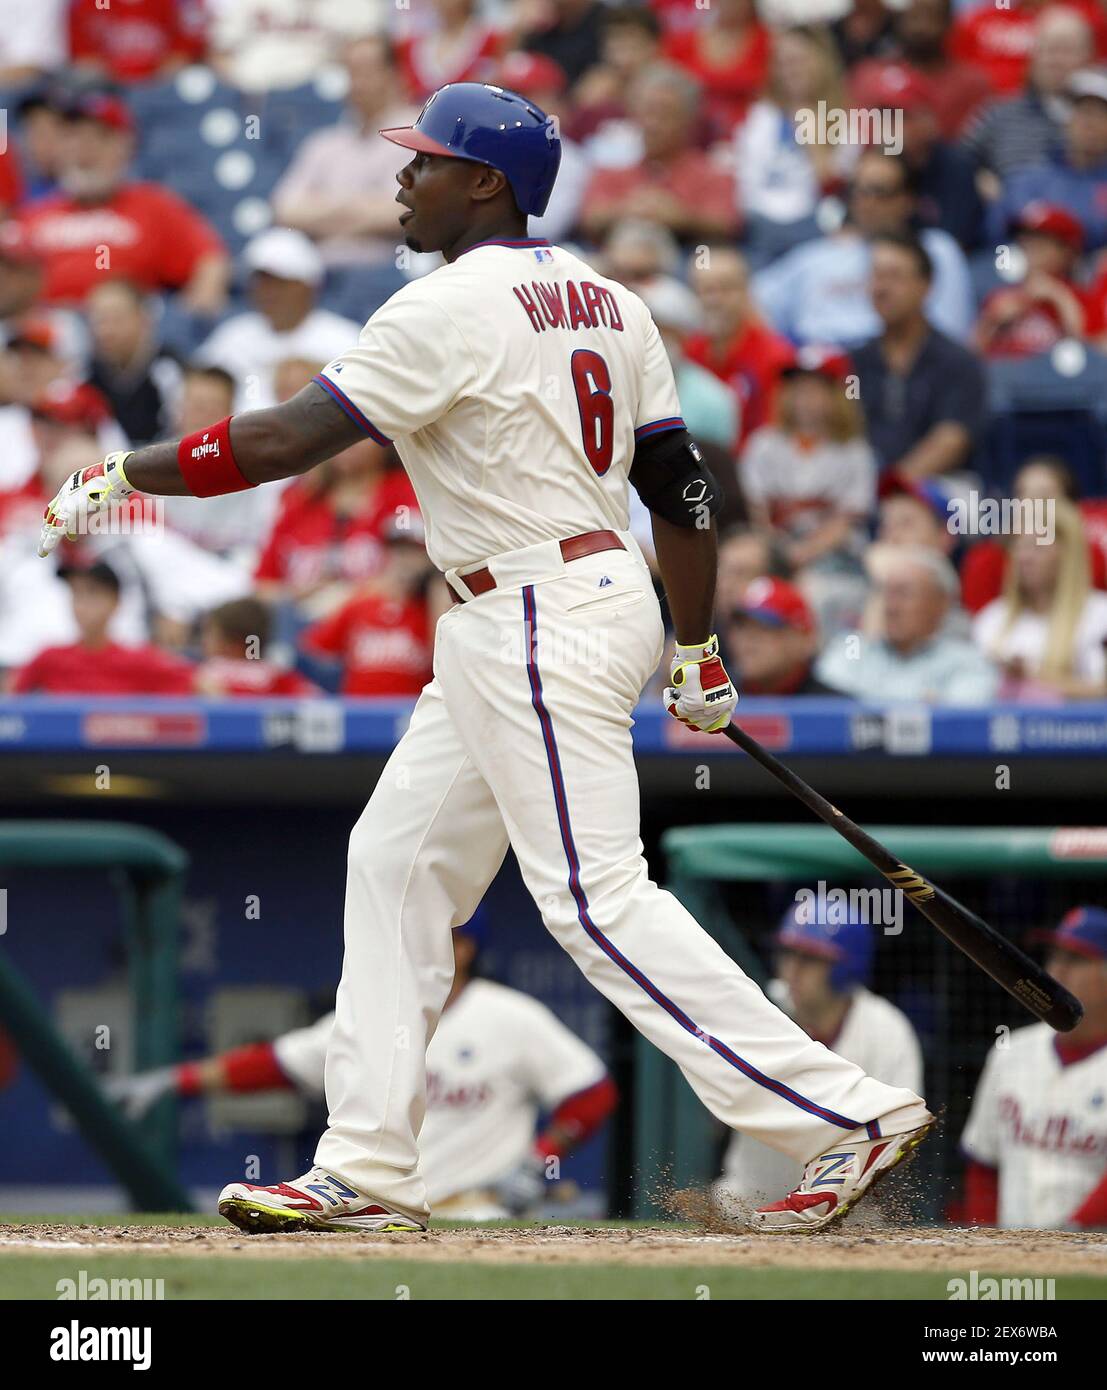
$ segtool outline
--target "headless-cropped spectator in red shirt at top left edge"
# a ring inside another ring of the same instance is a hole
[[[203,57],[200,0],[70,0],[70,58],[115,82],[147,82]]]

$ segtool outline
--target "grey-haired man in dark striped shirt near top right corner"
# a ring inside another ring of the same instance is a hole
[[[989,200],[1004,179],[1053,154],[1068,118],[1069,79],[1093,57],[1092,26],[1079,11],[1058,6],[1036,17],[1024,89],[989,101],[961,138]]]

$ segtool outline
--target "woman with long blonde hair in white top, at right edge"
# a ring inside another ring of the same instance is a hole
[[[1004,671],[1001,696],[1107,695],[1107,594],[1092,588],[1088,537],[1071,502],[1053,506],[1053,535],[1011,538],[1003,594],[976,614],[972,637]]]

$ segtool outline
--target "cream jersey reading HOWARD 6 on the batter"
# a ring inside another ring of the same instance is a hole
[[[441,570],[626,531],[636,439],[683,424],[645,304],[538,239],[406,285],[316,381],[395,439]]]

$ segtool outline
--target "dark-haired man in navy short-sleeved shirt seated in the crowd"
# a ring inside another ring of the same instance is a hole
[[[883,332],[853,354],[876,460],[908,478],[967,467],[983,430],[983,368],[928,318],[930,278],[919,239],[878,238],[871,293]]]

